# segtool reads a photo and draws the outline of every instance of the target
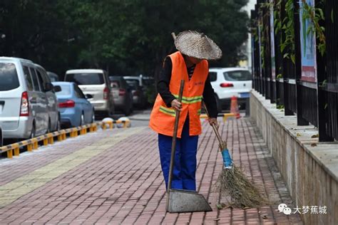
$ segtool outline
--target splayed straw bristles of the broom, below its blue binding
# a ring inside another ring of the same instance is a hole
[[[235,165],[232,169],[222,169],[216,188],[223,196],[228,195],[232,199],[231,205],[235,207],[254,208],[267,204],[267,199]]]

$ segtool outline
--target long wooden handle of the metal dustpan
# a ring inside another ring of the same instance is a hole
[[[183,88],[184,88],[184,80],[180,80],[180,93],[178,94],[178,101],[179,102],[182,102]],[[171,157],[170,157],[170,167],[169,167],[168,192],[171,189],[171,182],[172,182],[172,179],[173,179],[173,167],[174,167],[175,149],[176,149],[176,138],[177,138],[177,134],[178,134],[178,121],[179,120],[180,120],[180,111],[176,110],[176,114],[175,114],[175,126],[174,126],[174,134],[173,134],[173,142],[171,144]]]

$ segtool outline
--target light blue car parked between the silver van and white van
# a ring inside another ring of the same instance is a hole
[[[53,85],[61,87],[56,97],[63,127],[78,127],[94,122],[94,108],[87,100],[93,98],[92,95],[84,95],[76,83],[53,82]]]

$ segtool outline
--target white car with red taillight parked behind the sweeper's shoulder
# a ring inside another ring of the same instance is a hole
[[[232,96],[237,97],[239,104],[250,97],[252,75],[245,68],[210,68],[209,77],[219,112],[229,107]]]

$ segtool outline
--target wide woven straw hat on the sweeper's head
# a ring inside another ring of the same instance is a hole
[[[222,51],[204,33],[197,31],[183,31],[178,36],[173,35],[175,46],[181,53],[206,60],[215,60],[222,57]]]

